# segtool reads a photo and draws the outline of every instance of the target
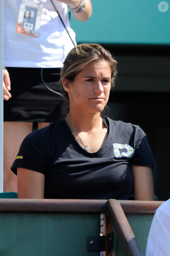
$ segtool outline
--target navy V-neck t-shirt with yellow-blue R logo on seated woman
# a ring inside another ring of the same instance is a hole
[[[84,150],[64,119],[35,130],[22,142],[11,170],[45,174],[44,198],[128,200],[133,189],[131,164],[155,163],[147,136],[131,123],[103,118],[106,142],[96,153]]]

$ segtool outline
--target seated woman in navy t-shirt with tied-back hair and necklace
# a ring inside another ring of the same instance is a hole
[[[79,44],[64,61],[65,116],[22,142],[11,167],[18,198],[154,200],[154,159],[142,129],[102,117],[117,61]]]

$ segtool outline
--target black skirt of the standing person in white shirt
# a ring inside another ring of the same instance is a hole
[[[4,121],[55,122],[61,118],[62,94],[59,68],[6,68],[11,80],[11,99],[4,100]]]

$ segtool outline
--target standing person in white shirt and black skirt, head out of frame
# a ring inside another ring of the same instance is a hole
[[[79,21],[91,16],[90,0],[4,0],[4,192],[17,191],[10,167],[33,123],[60,118],[60,69],[76,45],[67,5]]]

